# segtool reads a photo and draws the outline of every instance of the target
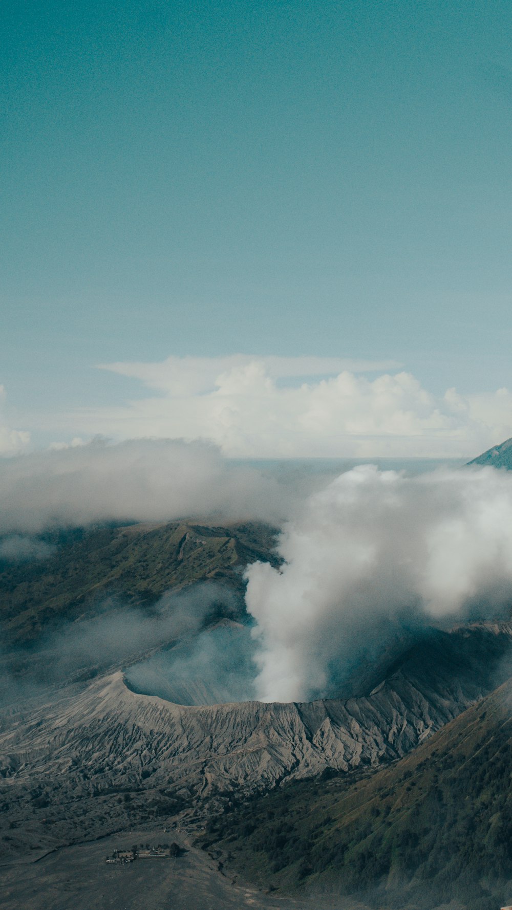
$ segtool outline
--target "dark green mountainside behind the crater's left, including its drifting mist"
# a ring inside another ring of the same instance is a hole
[[[75,528],[37,539],[45,559],[0,558],[0,705],[245,621],[243,571],[279,564],[275,535],[261,522]]]

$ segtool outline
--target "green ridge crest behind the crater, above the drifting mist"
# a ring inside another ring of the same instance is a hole
[[[111,594],[150,605],[164,591],[199,581],[218,581],[242,593],[241,567],[258,559],[275,561],[275,533],[261,523],[215,527],[189,521],[61,531],[49,559],[0,563],[6,640],[28,642],[48,625],[89,616]]]

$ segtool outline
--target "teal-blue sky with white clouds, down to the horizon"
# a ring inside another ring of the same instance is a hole
[[[508,3],[0,17],[1,454],[512,435]]]

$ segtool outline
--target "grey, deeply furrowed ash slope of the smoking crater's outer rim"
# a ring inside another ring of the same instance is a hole
[[[511,635],[505,624],[436,632],[423,658],[410,649],[374,692],[346,701],[184,707],[130,692],[117,673],[11,709],[0,715],[4,850],[394,760],[503,678]]]

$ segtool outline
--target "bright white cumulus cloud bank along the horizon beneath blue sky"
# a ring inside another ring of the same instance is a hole
[[[211,440],[235,458],[464,458],[512,433],[512,394],[435,396],[410,373],[341,359],[169,358],[103,365],[154,393],[77,411],[82,436]]]

